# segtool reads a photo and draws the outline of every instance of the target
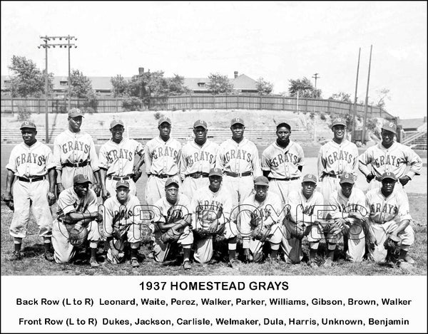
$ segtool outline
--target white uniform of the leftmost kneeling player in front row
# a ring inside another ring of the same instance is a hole
[[[56,263],[70,262],[76,255],[77,248],[70,244],[68,231],[74,224],[64,224],[63,219],[71,212],[96,212],[98,204],[96,194],[92,189],[88,189],[85,197],[79,198],[73,187],[64,189],[58,197],[58,214],[54,220],[52,228],[52,246],[54,247],[54,258]],[[96,221],[91,221],[88,226],[88,241],[98,241],[100,239],[100,229]]]

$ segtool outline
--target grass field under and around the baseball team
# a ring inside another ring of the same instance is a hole
[[[9,153],[13,145],[1,145],[1,182],[2,191],[4,190],[4,180],[6,176],[5,166],[9,158]],[[98,147],[97,147],[98,149]],[[259,147],[263,150],[263,147]],[[315,156],[317,148],[305,152],[308,159],[305,166],[306,172],[315,172]],[[309,153],[309,155],[308,155]],[[312,171],[313,169],[313,171]],[[286,265],[281,263],[265,262],[261,264],[239,264],[237,268],[228,268],[223,260],[227,254],[226,245],[223,243],[223,254],[218,254],[215,259],[218,263],[201,265],[193,263],[193,269],[183,271],[180,263],[176,261],[167,261],[166,263],[156,263],[148,259],[147,246],[143,246],[142,254],[146,259],[137,269],[131,268],[129,263],[121,263],[113,266],[110,263],[103,263],[100,268],[93,269],[88,263],[73,263],[67,265],[58,265],[48,263],[43,259],[43,244],[38,236],[37,225],[31,217],[29,224],[29,235],[24,239],[23,251],[24,261],[10,262],[6,258],[13,251],[13,239],[9,235],[9,226],[12,218],[12,212],[3,203],[1,203],[1,274],[2,275],[426,275],[427,274],[427,167],[418,182],[414,182],[412,188],[408,190],[411,214],[414,219],[413,227],[416,234],[416,241],[409,254],[416,260],[416,264],[409,270],[404,271],[401,268],[390,268],[374,263],[348,263],[344,261],[342,254],[342,245],[337,251],[337,266],[332,268],[318,268],[316,270],[309,268],[304,262],[298,265]],[[142,204],[144,200],[144,185],[146,184],[146,175],[143,174],[137,183],[138,197]],[[53,207],[56,212],[56,204]],[[146,240],[147,241],[147,240]],[[240,245],[238,245],[239,250]],[[320,246],[320,263],[322,263],[322,253],[324,245]],[[307,244],[304,242],[304,251],[308,252]],[[84,254],[81,254],[84,255]]]

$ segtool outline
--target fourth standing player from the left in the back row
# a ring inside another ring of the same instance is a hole
[[[158,122],[159,137],[149,140],[144,148],[148,176],[146,202],[155,204],[165,194],[165,180],[175,177],[180,182],[181,144],[170,137],[171,120],[164,116]]]

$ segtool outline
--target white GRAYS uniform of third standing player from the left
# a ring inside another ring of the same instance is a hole
[[[126,179],[129,182],[130,194],[136,195],[136,183],[132,179],[136,154],[143,156],[144,147],[133,139],[123,138],[119,143],[108,140],[101,146],[99,167],[107,169],[106,189],[112,197],[116,194],[119,178]]]

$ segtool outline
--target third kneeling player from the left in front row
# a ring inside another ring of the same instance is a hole
[[[170,243],[164,243],[161,235],[168,229],[180,234],[177,243],[183,247],[183,268],[188,270],[190,265],[190,251],[193,245],[191,229],[190,200],[185,194],[178,194],[178,181],[169,178],[165,181],[165,196],[155,203],[154,209],[154,236],[153,258],[163,262],[170,252]]]

